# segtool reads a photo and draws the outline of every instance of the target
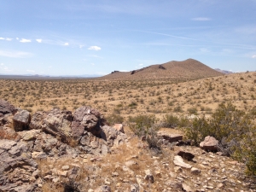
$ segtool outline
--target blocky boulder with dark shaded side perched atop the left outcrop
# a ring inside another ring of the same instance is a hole
[[[28,129],[28,125],[31,120],[31,114],[20,109],[13,118],[15,131],[24,131]]]

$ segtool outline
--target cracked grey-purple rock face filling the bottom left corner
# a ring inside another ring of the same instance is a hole
[[[38,164],[25,142],[0,140],[0,191],[38,191]]]

